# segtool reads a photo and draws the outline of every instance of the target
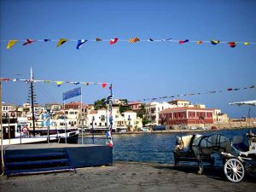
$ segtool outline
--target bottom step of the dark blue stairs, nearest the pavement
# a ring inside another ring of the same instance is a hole
[[[61,171],[76,172],[76,170],[71,166],[59,166],[59,167],[52,167],[52,168],[38,168],[38,169],[29,169],[29,170],[9,171],[7,175],[10,176],[10,175],[19,175],[19,174],[26,174],[26,173],[44,173],[44,172],[61,172]]]

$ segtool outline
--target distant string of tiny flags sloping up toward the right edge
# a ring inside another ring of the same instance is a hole
[[[255,85],[251,85],[251,86],[244,87],[244,88],[231,88],[230,87],[225,90],[210,90],[207,92],[186,93],[186,94],[180,94],[180,95],[176,95],[176,96],[159,96],[159,97],[147,98],[147,99],[143,99],[143,100],[137,100],[137,101],[133,101],[133,102],[155,101],[155,100],[169,99],[169,98],[180,97],[180,96],[195,96],[195,95],[198,96],[198,95],[206,95],[206,94],[213,94],[213,93],[222,93],[225,91],[230,92],[230,91],[247,90],[247,89],[255,89]]]

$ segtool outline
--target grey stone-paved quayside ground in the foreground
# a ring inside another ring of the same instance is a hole
[[[113,166],[86,167],[74,172],[0,177],[0,191],[10,192],[143,192],[143,191],[255,191],[256,180],[246,178],[230,183],[218,168],[206,168],[197,175],[196,167],[156,163],[115,162]]]

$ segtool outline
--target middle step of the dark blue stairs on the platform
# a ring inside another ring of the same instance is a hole
[[[32,161],[20,161],[20,162],[7,162],[6,165],[9,166],[29,166],[29,165],[45,165],[54,163],[68,163],[68,159],[60,160],[32,160]]]

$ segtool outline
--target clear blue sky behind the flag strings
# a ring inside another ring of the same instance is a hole
[[[173,42],[89,41],[81,49],[68,41],[18,42],[6,49],[9,39],[212,39],[256,42],[256,1],[85,1],[85,0],[0,0],[1,2],[1,77],[113,83],[114,98],[130,101],[185,93],[244,88],[255,85],[256,44]],[[15,74],[21,74],[19,76]],[[75,85],[36,84],[39,103],[62,102],[62,92]],[[83,102],[93,103],[108,96],[100,85],[83,86]],[[224,91],[177,99],[220,108],[230,117],[247,115],[248,107],[229,102],[255,99],[255,89]],[[26,102],[28,85],[3,83],[3,101]],[[73,98],[71,101],[79,101]],[[168,99],[166,101],[170,101]],[[69,101],[69,102],[71,102]],[[251,108],[256,117],[256,109]]]

